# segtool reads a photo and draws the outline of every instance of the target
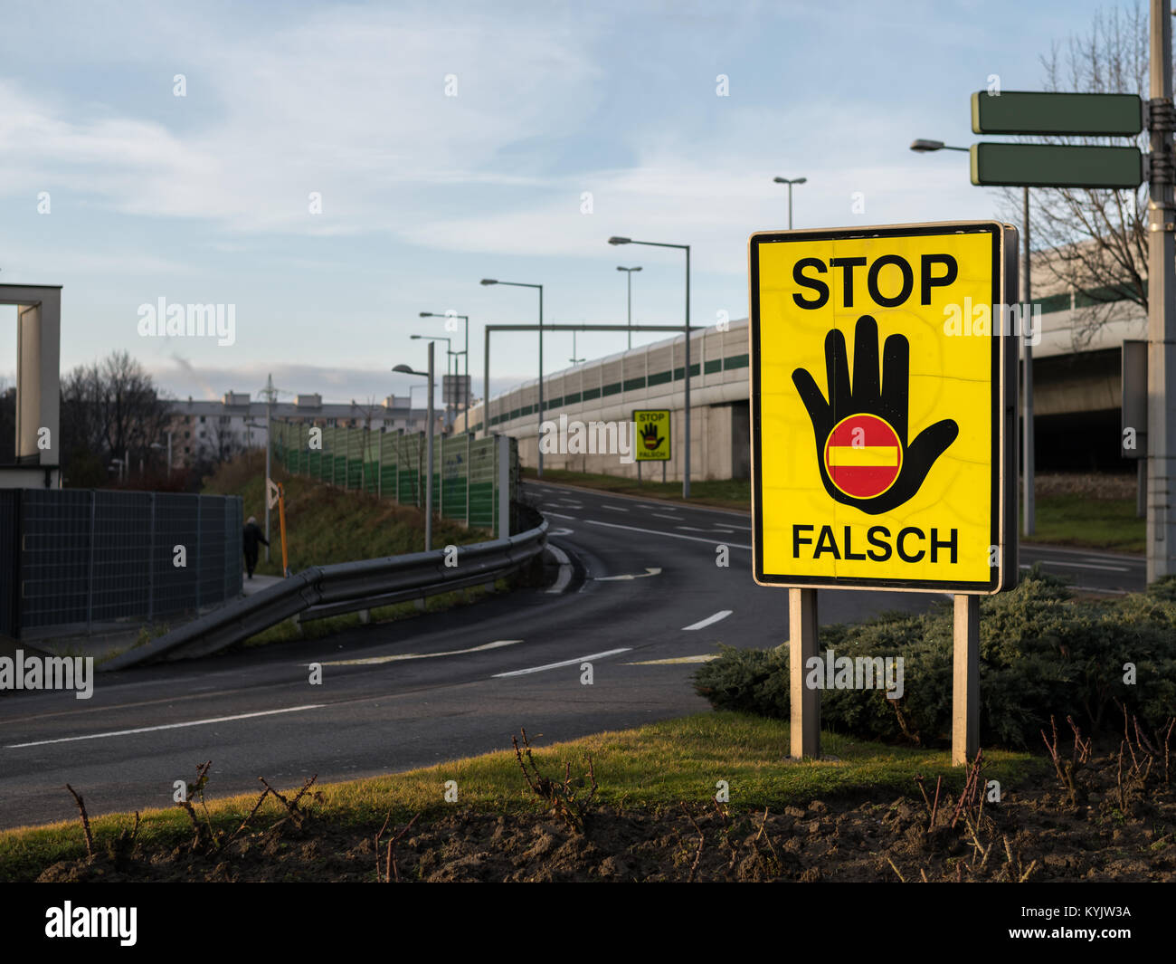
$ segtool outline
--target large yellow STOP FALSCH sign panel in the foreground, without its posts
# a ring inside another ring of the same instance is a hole
[[[1016,584],[1016,253],[993,221],[751,235],[757,583]]]

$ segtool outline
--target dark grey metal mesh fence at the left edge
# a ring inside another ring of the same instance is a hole
[[[153,620],[241,592],[241,499],[0,493],[0,632]],[[11,565],[8,565],[11,560]]]

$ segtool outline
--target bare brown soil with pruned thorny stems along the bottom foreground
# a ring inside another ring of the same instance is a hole
[[[923,782],[911,797],[811,800],[779,813],[576,803],[572,819],[560,806],[546,815],[441,811],[407,830],[341,830],[310,805],[223,845],[207,837],[171,850],[129,845],[118,856],[56,863],[38,879],[1174,880],[1168,766],[1176,760],[1149,759],[1137,766],[1129,746],[1087,763],[1063,753],[1061,777],[1044,771],[998,804],[981,771],[969,772],[963,792],[943,786],[937,800],[935,783]]]

